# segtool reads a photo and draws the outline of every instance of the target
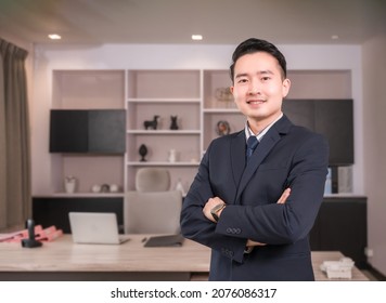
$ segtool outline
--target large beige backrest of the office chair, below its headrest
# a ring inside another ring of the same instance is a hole
[[[126,234],[179,234],[182,194],[180,190],[126,193]]]

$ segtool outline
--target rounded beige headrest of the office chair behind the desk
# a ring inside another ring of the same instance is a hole
[[[137,192],[166,192],[170,189],[170,173],[164,168],[141,168],[136,174]]]

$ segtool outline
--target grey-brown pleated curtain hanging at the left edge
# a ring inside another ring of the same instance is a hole
[[[0,38],[0,228],[31,214],[27,54]]]

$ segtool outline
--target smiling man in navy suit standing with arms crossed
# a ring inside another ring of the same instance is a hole
[[[211,248],[210,280],[313,280],[308,235],[323,199],[327,143],[282,113],[291,81],[276,47],[252,38],[232,60],[245,129],[207,148],[183,202],[182,234]]]

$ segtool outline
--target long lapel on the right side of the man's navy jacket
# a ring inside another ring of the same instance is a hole
[[[291,121],[283,116],[272,128],[267,132],[267,134],[263,136],[259,145],[257,146],[256,150],[254,154],[250,156],[248,164],[245,167],[245,154],[243,163],[244,166],[241,169],[241,180],[237,188],[237,194],[235,198],[235,203],[240,203],[240,197],[241,194],[243,193],[245,186],[248,184],[250,177],[257,170],[257,168],[261,164],[263,159],[268,156],[268,154],[271,152],[273,146],[280,141],[281,139],[281,133],[286,133],[291,127]],[[241,144],[241,143],[239,143]],[[244,135],[244,153],[245,153],[245,135]],[[245,167],[245,169],[244,169]],[[239,171],[237,171],[239,172]],[[240,173],[240,172],[239,172]]]

